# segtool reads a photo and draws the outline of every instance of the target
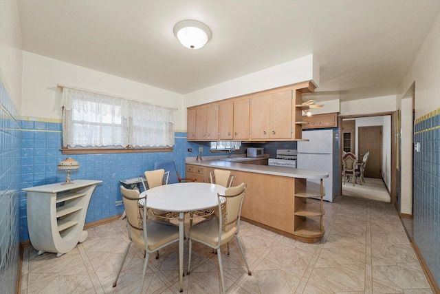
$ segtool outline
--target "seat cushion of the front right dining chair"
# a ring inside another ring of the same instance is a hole
[[[223,230],[221,233],[221,245],[228,243],[234,238],[236,227],[231,226],[229,229]],[[197,239],[212,247],[216,247],[219,243],[219,218],[214,216],[203,222],[199,222],[189,230],[189,236],[192,239]]]

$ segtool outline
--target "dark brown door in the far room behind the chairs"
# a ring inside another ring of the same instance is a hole
[[[382,125],[358,128],[358,161],[369,153],[364,177],[382,179]]]

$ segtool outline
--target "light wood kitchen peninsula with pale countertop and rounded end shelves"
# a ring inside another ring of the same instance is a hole
[[[325,232],[322,178],[328,178],[329,174],[246,163],[256,163],[255,159],[221,158],[202,162],[187,159],[186,177],[210,182],[210,171],[228,169],[234,175],[233,185],[241,182],[248,185],[241,210],[243,220],[301,242],[318,242]],[[313,183],[307,186],[307,179],[321,179],[320,187],[312,187]]]

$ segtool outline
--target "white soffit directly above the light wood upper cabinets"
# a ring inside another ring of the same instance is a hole
[[[313,54],[186,94],[185,104],[190,107],[304,81],[319,86],[319,64]]]

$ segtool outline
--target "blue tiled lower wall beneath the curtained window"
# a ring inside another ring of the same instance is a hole
[[[63,182],[65,171],[58,171],[58,162],[66,156],[61,154],[61,123],[21,120],[21,187]],[[150,152],[131,154],[81,154],[72,155],[80,164],[78,170],[71,172],[72,180],[102,180],[96,187],[87,210],[86,223],[95,222],[124,211],[123,206],[115,206],[122,200],[119,180],[134,178],[153,169],[159,159],[175,160],[177,171],[184,176],[185,156],[188,143],[186,133],[175,133],[175,147],[171,152]],[[197,149],[198,150],[198,149]],[[185,152],[184,152],[185,151]],[[26,211],[26,192],[20,192],[20,240],[29,240]]]

